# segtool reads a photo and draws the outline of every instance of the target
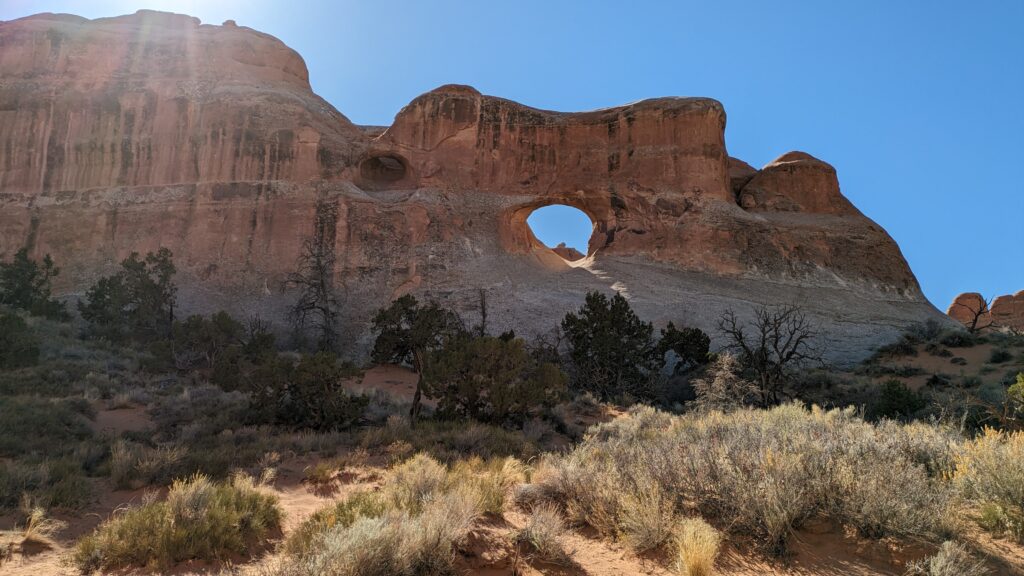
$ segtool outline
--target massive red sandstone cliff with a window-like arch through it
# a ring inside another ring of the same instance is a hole
[[[791,152],[756,170],[728,156],[725,122],[710,98],[557,113],[449,85],[358,127],[296,52],[233,23],[39,14],[0,24],[0,258],[50,253],[78,295],[167,246],[183,310],[281,320],[328,210],[356,352],[409,292],[468,316],[485,289],[495,329],[524,335],[595,289],[713,336],[726,310],[797,303],[840,361],[944,318],[831,166]],[[550,204],[594,221],[584,265],[529,231]]]

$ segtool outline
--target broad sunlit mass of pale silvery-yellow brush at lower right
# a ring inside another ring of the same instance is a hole
[[[919,429],[880,429],[852,410],[672,416],[640,407],[544,459],[531,491],[638,550],[665,543],[687,507],[776,553],[816,513],[866,535],[934,538],[948,532],[950,491],[936,470],[949,446]]]

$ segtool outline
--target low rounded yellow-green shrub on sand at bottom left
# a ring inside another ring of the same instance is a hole
[[[282,521],[276,496],[248,477],[214,483],[176,481],[163,501],[125,509],[79,540],[73,560],[83,572],[166,567],[187,560],[245,554]]]

